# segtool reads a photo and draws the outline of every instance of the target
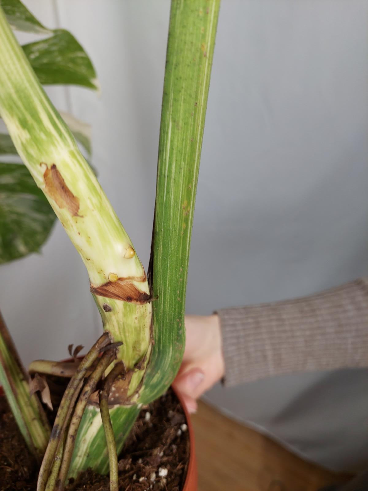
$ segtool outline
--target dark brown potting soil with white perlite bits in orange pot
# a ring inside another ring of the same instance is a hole
[[[183,489],[189,458],[188,432],[181,430],[184,422],[183,409],[171,389],[142,408],[119,456],[119,490]],[[0,397],[0,491],[35,491],[37,473],[38,464],[5,398]],[[67,491],[86,490],[109,491],[108,477],[88,469],[67,487]]]

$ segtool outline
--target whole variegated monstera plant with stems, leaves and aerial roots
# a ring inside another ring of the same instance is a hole
[[[86,126],[58,113],[42,88],[95,89],[91,61],[68,31],[43,26],[19,0],[0,0],[0,116],[8,132],[0,135],[0,262],[39,250],[56,215],[87,268],[103,324],[82,361],[36,360],[29,368],[70,379],[51,429],[0,323],[0,382],[28,447],[42,460],[39,491],[62,490],[88,467],[109,471],[117,490],[117,453],[140,405],[161,395],[179,369],[218,10],[219,0],[172,0],[147,276],[87,163]],[[12,29],[43,38],[20,46]],[[22,163],[7,163],[12,154]]]

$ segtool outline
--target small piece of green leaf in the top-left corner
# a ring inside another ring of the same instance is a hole
[[[19,0],[0,0],[7,21],[13,29],[38,34],[50,34],[52,31],[43,26]]]

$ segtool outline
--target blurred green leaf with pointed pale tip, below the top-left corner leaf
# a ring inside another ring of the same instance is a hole
[[[99,88],[91,60],[67,30],[55,29],[53,36],[26,44],[22,48],[40,83]]]

